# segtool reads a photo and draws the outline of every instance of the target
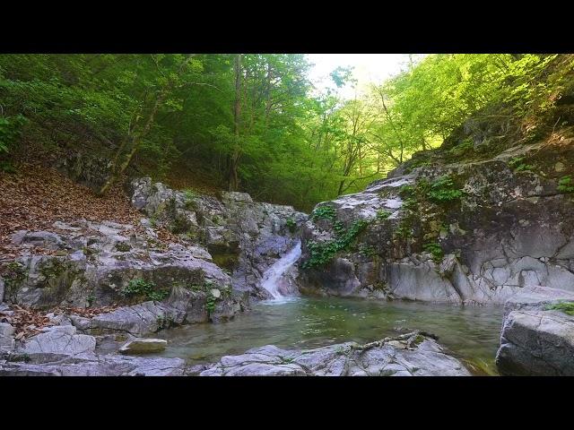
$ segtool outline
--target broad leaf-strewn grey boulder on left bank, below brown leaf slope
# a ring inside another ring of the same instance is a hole
[[[57,243],[68,250],[65,255],[25,253],[16,259],[10,278],[4,280],[5,300],[39,309],[133,305],[147,298],[122,294],[134,280],[145,280],[167,291],[180,283],[230,287],[230,276],[203,248],[162,245],[151,236],[135,234],[133,226],[109,221],[78,221],[76,225],[82,226],[82,231],[49,236],[57,237]],[[46,232],[39,233],[46,236]],[[24,242],[27,237],[33,238],[35,233],[28,232]]]

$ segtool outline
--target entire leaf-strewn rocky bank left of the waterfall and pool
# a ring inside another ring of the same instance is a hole
[[[265,270],[297,243],[306,219],[246,193],[218,200],[149,178],[129,189],[143,214],[137,223],[58,220],[13,233],[16,256],[0,268],[4,370],[23,359],[32,366],[24,374],[178,374],[182,360],[117,352],[175,325],[230,319],[267,297]]]

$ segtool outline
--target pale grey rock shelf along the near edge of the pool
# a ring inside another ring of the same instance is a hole
[[[0,342],[5,326],[0,324]],[[137,341],[154,345],[159,340]],[[2,343],[0,343],[1,345]],[[149,348],[149,346],[147,347]],[[0,375],[9,376],[468,376],[439,344],[415,331],[359,345],[354,342],[308,350],[272,345],[226,356],[215,365],[187,366],[179,358],[99,354],[93,336],[73,326],[50,327],[0,355]],[[124,348],[127,349],[127,348]],[[135,348],[136,349],[136,348]],[[141,349],[140,349],[141,352]]]

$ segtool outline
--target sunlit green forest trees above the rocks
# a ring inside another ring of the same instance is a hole
[[[99,193],[135,168],[309,211],[438,147],[485,107],[534,133],[571,68],[570,56],[430,55],[344,99],[352,69],[317,89],[305,55],[2,55],[0,163],[89,148],[113,163]]]

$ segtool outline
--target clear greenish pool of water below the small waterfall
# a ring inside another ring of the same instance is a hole
[[[217,361],[249,348],[316,348],[349,340],[368,342],[406,329],[429,331],[475,374],[496,374],[501,306],[434,305],[360,298],[295,298],[261,302],[227,323],[205,323],[158,333],[168,340],[160,357],[190,364]]]

